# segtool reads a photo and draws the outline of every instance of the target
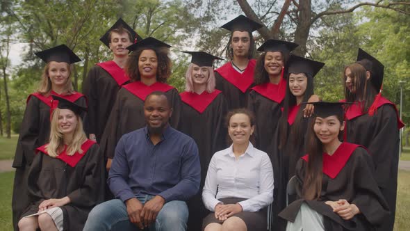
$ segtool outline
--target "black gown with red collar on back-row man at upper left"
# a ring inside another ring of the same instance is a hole
[[[84,128],[87,134],[95,134],[97,143],[101,141],[118,90],[128,82],[124,70],[113,61],[98,63],[88,72],[83,87],[88,99]]]

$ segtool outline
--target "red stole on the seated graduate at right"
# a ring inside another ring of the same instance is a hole
[[[323,153],[323,173],[325,173],[331,179],[337,177],[337,175],[341,172],[342,168],[346,165],[354,150],[356,150],[356,148],[358,147],[364,148],[361,145],[343,142],[331,156],[327,153]],[[308,162],[309,155],[304,155],[302,159]]]

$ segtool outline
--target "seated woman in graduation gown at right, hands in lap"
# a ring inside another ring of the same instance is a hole
[[[373,230],[389,212],[366,148],[341,142],[343,103],[318,102],[306,154],[297,162],[297,198],[279,216],[287,231]]]

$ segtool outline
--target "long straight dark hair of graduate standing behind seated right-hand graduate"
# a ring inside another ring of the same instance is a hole
[[[304,91],[303,101],[307,102],[309,97],[313,95],[313,77],[310,74],[304,73],[307,79],[306,90]],[[286,143],[292,143],[293,147],[300,147],[300,145],[304,145],[302,143],[305,131],[302,131],[302,120],[303,120],[303,109],[306,106],[302,104],[300,106],[299,111],[297,111],[297,115],[295,118],[295,122],[293,125],[288,129],[288,115],[289,109],[292,106],[296,105],[296,97],[290,92],[289,87],[289,75],[287,79],[287,87],[286,87],[286,95],[284,99],[284,111],[282,112],[281,118],[279,118],[279,134],[280,141],[279,141],[279,149],[284,148]],[[288,133],[289,132],[289,133]],[[290,150],[289,150],[290,151]],[[294,152],[289,152],[290,154],[296,154]]]

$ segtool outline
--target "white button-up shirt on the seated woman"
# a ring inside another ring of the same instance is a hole
[[[218,193],[217,193],[218,189]],[[273,169],[268,154],[249,143],[236,159],[231,147],[216,152],[209,164],[202,200],[215,211],[220,198],[247,198],[239,202],[243,211],[256,212],[273,201]]]

